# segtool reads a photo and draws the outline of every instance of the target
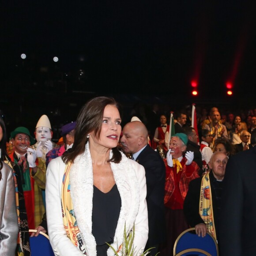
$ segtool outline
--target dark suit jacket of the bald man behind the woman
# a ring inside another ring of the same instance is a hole
[[[148,210],[148,241],[146,247],[151,247],[165,241],[165,178],[166,167],[161,156],[147,145],[136,158],[136,162],[145,168],[147,184]]]

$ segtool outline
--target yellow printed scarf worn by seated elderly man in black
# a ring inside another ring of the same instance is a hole
[[[202,178],[199,200],[199,214],[206,224],[207,230],[215,237],[215,239],[217,239],[212,211],[211,184],[209,173],[205,173]]]

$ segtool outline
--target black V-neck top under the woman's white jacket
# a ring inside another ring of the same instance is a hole
[[[117,185],[107,193],[94,186],[92,203],[92,234],[97,244],[97,256],[106,256],[109,246],[105,242],[113,243],[121,209]]]

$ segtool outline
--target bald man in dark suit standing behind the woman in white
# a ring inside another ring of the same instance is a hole
[[[148,240],[145,250],[150,249],[151,256],[158,252],[158,246],[166,239],[164,188],[166,167],[158,152],[147,143],[148,131],[139,121],[126,124],[120,139],[122,149],[132,153],[133,159],[145,168],[147,184]]]

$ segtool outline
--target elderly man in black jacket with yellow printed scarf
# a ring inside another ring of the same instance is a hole
[[[223,152],[212,154],[210,172],[189,183],[184,200],[184,214],[189,226],[196,228],[198,236],[205,237],[210,232],[217,239],[218,220],[222,185],[228,156]]]

